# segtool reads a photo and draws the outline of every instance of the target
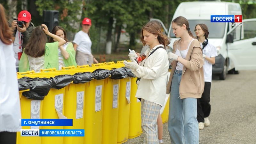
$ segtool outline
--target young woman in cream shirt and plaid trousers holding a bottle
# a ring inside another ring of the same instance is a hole
[[[141,42],[149,45],[146,59],[140,64],[129,54],[132,62],[124,65],[140,78],[136,97],[141,99],[141,128],[144,143],[158,144],[157,117],[164,105],[169,61],[164,47],[169,44],[168,37],[163,35],[157,21],[150,21],[141,30]]]

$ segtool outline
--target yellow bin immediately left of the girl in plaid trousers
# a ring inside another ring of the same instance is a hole
[[[136,138],[142,133],[141,129],[141,109],[140,100],[135,97],[137,92],[137,77],[132,77],[131,81],[131,106],[129,122],[129,139]]]

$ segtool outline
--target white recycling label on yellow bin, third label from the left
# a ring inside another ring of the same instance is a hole
[[[83,118],[84,91],[76,92],[76,119]]]

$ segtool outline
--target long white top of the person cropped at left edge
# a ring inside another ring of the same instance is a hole
[[[20,131],[20,96],[13,45],[0,40],[0,132]]]

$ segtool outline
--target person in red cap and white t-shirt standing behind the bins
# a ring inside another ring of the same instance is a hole
[[[84,18],[82,21],[82,30],[76,33],[73,40],[77,65],[92,65],[92,63],[98,63],[98,61],[93,57],[91,50],[92,41],[89,37],[89,30],[91,26],[91,19]]]

